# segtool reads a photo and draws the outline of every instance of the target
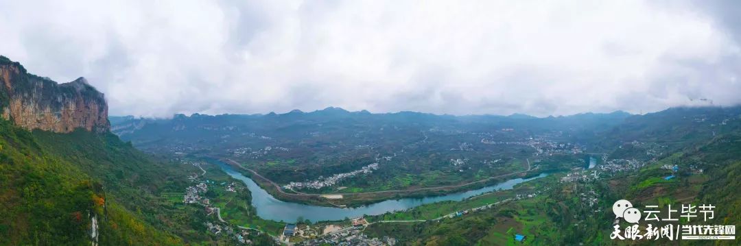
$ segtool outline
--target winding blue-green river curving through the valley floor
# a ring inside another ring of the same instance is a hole
[[[229,176],[245,182],[247,188],[249,188],[250,192],[252,192],[252,205],[256,208],[258,216],[260,216],[262,219],[270,219],[278,222],[295,222],[296,219],[298,219],[299,217],[309,219],[312,222],[342,220],[345,218],[353,218],[363,215],[378,215],[390,211],[406,210],[411,207],[417,207],[419,205],[425,205],[433,202],[461,201],[471,196],[478,196],[482,193],[488,193],[494,190],[509,190],[512,189],[514,185],[517,185],[519,183],[548,176],[548,173],[541,173],[539,176],[528,179],[509,179],[497,185],[491,185],[476,190],[468,190],[460,193],[451,193],[445,196],[394,199],[373,203],[371,205],[365,205],[362,207],[339,208],[304,205],[295,202],[280,201],[270,195],[268,191],[262,189],[262,187],[253,182],[252,179],[247,178],[246,176],[242,175],[242,173],[234,170],[233,167],[231,167],[230,165],[218,160],[214,160],[213,162],[219,164],[219,167],[221,167],[222,170],[224,170]]]

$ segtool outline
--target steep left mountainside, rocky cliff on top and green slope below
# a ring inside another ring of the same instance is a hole
[[[110,133],[103,94],[27,73],[0,56],[0,245],[211,242],[182,192],[192,166],[148,156]]]

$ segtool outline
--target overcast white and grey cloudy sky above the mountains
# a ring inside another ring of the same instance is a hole
[[[112,115],[646,113],[741,102],[740,2],[0,1],[0,54]]]

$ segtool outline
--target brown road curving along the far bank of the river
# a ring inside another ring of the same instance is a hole
[[[225,160],[225,162],[229,162],[230,164],[236,165],[237,167],[242,167],[241,164],[239,164],[238,162],[235,162],[232,159],[222,158],[222,160]],[[526,173],[526,172],[532,170],[532,167],[530,165],[530,160],[529,159],[525,159],[525,162],[528,163],[528,170],[514,172],[514,173],[502,174],[502,175],[499,175],[499,176],[488,177],[486,179],[481,179],[481,180],[477,180],[477,181],[474,181],[474,182],[468,182],[468,183],[459,184],[459,185],[443,185],[443,186],[436,186],[436,187],[422,187],[422,188],[414,188],[414,189],[407,189],[407,190],[381,190],[381,191],[368,191],[368,192],[360,192],[360,193],[330,193],[330,194],[286,193],[285,191],[283,191],[283,189],[282,189],[282,187],[280,187],[280,185],[276,184],[276,182],[273,182],[272,180],[270,180],[268,178],[265,178],[264,176],[260,175],[256,171],[254,171],[254,170],[252,170],[250,168],[247,168],[247,167],[242,167],[242,169],[245,169],[247,171],[250,171],[250,173],[253,173],[255,176],[259,177],[260,179],[263,179],[263,180],[269,182],[270,185],[273,185],[273,187],[276,187],[276,190],[278,190],[279,193],[282,193],[282,194],[287,195],[287,196],[322,196],[322,195],[342,195],[342,196],[355,195],[355,196],[357,196],[357,195],[383,194],[383,193],[410,193],[410,192],[424,191],[424,190],[448,190],[448,189],[451,189],[451,188],[465,187],[465,186],[468,186],[468,185],[473,185],[473,184],[478,184],[478,183],[482,183],[482,182],[487,182],[487,181],[489,181],[491,179],[502,178],[502,177],[505,177],[505,176],[512,176],[512,175],[519,174],[519,173]]]

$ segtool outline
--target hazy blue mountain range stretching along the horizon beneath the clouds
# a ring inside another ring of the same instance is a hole
[[[677,147],[695,141],[688,136],[707,139],[722,132],[711,124],[721,126],[724,119],[741,113],[741,107],[674,107],[656,113],[631,115],[624,111],[612,113],[580,113],[572,116],[539,118],[522,114],[511,116],[450,116],[402,111],[398,113],[349,112],[339,107],[328,107],[305,113],[293,110],[268,115],[178,115],[173,119],[111,118],[114,133],[130,140],[138,147],[147,144],[175,144],[189,139],[207,141],[214,136],[261,134],[278,138],[304,138],[307,134],[331,130],[333,134],[369,133],[397,127],[411,132],[421,130],[462,130],[488,132],[511,129],[519,134],[534,135],[556,131],[571,141],[590,145],[591,150],[611,150],[625,142],[665,142]],[[702,126],[702,127],[700,127]],[[707,126],[707,127],[705,127]],[[402,127],[402,128],[400,128]],[[692,133],[687,135],[686,133]],[[213,139],[223,141],[223,139]],[[235,143],[236,144],[236,143]]]

